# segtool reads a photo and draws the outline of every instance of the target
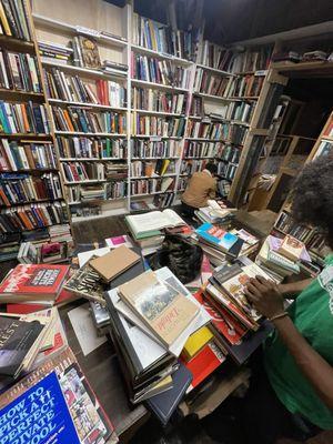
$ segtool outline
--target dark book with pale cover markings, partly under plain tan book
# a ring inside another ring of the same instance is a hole
[[[91,262],[97,258],[92,256],[81,269],[74,271],[64,283],[63,289],[80,297],[105,305],[104,292],[107,285],[102,282],[100,274],[91,266]]]

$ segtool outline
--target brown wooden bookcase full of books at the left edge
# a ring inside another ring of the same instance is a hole
[[[11,235],[31,238],[32,232],[67,223],[69,218],[30,4],[19,0],[7,7],[16,8],[20,21],[4,27],[0,39],[0,233],[4,244]]]

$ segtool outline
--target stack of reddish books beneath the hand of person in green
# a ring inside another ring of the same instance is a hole
[[[270,323],[252,306],[244,294],[250,278],[273,280],[248,258],[218,266],[196,300],[211,315],[209,325],[219,347],[242,364],[271,330]],[[276,282],[276,281],[274,281]],[[255,332],[255,334],[253,334]]]

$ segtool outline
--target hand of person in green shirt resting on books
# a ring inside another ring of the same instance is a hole
[[[262,276],[248,282],[244,293],[254,307],[264,316],[273,317],[283,313],[283,296],[278,285]]]

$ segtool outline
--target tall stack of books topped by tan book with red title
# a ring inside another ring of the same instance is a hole
[[[168,268],[147,271],[105,297],[130,400],[150,398],[153,408],[157,394],[172,391],[183,372],[178,357],[189,336],[210,317]],[[183,391],[191,380],[188,372]]]

